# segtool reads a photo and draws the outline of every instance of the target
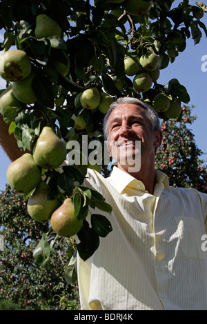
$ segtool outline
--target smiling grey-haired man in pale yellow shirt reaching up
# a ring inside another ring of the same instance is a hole
[[[78,256],[81,310],[206,310],[207,195],[169,187],[155,170],[162,134],[156,112],[142,101],[112,103],[103,130],[117,167],[108,179],[88,170],[84,184],[112,205],[112,214],[101,212],[112,232],[90,259]]]

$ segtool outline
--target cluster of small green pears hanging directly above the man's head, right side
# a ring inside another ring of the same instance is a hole
[[[159,79],[159,56],[155,52],[146,52],[141,57],[126,57],[124,72],[130,77],[134,76],[135,91],[146,92]]]

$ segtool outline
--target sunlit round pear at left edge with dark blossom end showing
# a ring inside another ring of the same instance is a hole
[[[23,50],[7,50],[0,57],[0,75],[6,81],[21,81],[30,75],[32,65]]]

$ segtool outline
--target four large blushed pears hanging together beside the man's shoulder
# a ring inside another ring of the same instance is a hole
[[[33,154],[25,153],[13,161],[7,170],[10,186],[30,194],[28,199],[28,214],[35,221],[49,221],[52,229],[59,236],[72,236],[79,232],[82,221],[74,217],[74,205],[71,198],[63,203],[58,196],[50,199],[49,186],[41,177],[41,169],[52,170],[58,168],[66,159],[66,145],[59,139],[52,128],[42,129]]]

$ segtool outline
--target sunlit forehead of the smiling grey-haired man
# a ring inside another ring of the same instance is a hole
[[[142,119],[146,119],[146,111],[144,108],[139,105],[135,105],[133,103],[124,103],[122,105],[118,105],[108,117],[108,122],[111,123],[114,119],[129,119],[130,117],[141,117]]]

